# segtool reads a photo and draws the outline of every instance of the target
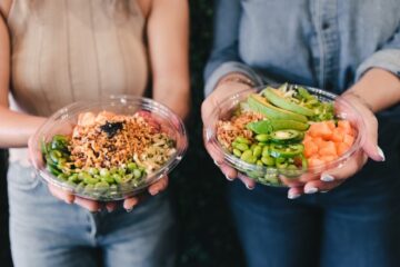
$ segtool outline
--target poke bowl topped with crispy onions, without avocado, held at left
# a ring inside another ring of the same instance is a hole
[[[46,182],[100,200],[133,196],[169,174],[188,146],[182,121],[147,98],[72,103],[33,137],[34,167]]]

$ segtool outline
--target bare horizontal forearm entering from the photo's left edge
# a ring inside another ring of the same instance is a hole
[[[0,107],[0,147],[27,147],[28,139],[44,122],[44,118],[19,113]]]

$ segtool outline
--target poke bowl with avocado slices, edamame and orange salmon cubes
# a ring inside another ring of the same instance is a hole
[[[289,83],[230,96],[208,121],[204,140],[213,154],[239,175],[268,186],[319,179],[360,148],[364,131],[362,118],[344,99]]]

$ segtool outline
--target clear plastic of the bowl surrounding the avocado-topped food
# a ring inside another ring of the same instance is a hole
[[[292,86],[297,87],[297,85]],[[234,157],[218,141],[217,122],[220,119],[227,120],[232,117],[233,111],[238,108],[240,102],[244,101],[250,93],[260,92],[266,87],[267,86],[248,89],[229,96],[222,100],[218,107],[216,107],[208,119],[208,126],[204,127],[204,141],[210,145],[209,149],[212,150],[211,154],[218,157],[221,162],[223,161],[226,165],[238,170],[238,176],[247,176],[254,179],[259,184],[274,187],[286,187],[290,182],[319,179],[319,176],[323,171],[333,168],[340,168],[342,165],[344,165],[346,161],[362,146],[364,140],[364,121],[354,107],[334,93],[321,89],[301,86],[311,95],[316,96],[319,100],[324,102],[334,102],[336,118],[347,119],[351,122],[352,127],[357,130],[357,137],[350,149],[331,162],[313,166],[312,168],[307,168],[306,170],[288,170],[257,166]],[[276,85],[273,85],[273,87],[277,88]]]

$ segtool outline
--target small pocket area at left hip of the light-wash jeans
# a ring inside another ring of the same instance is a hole
[[[39,187],[40,177],[32,167],[11,164],[8,170],[8,182],[10,188],[31,191]]]

